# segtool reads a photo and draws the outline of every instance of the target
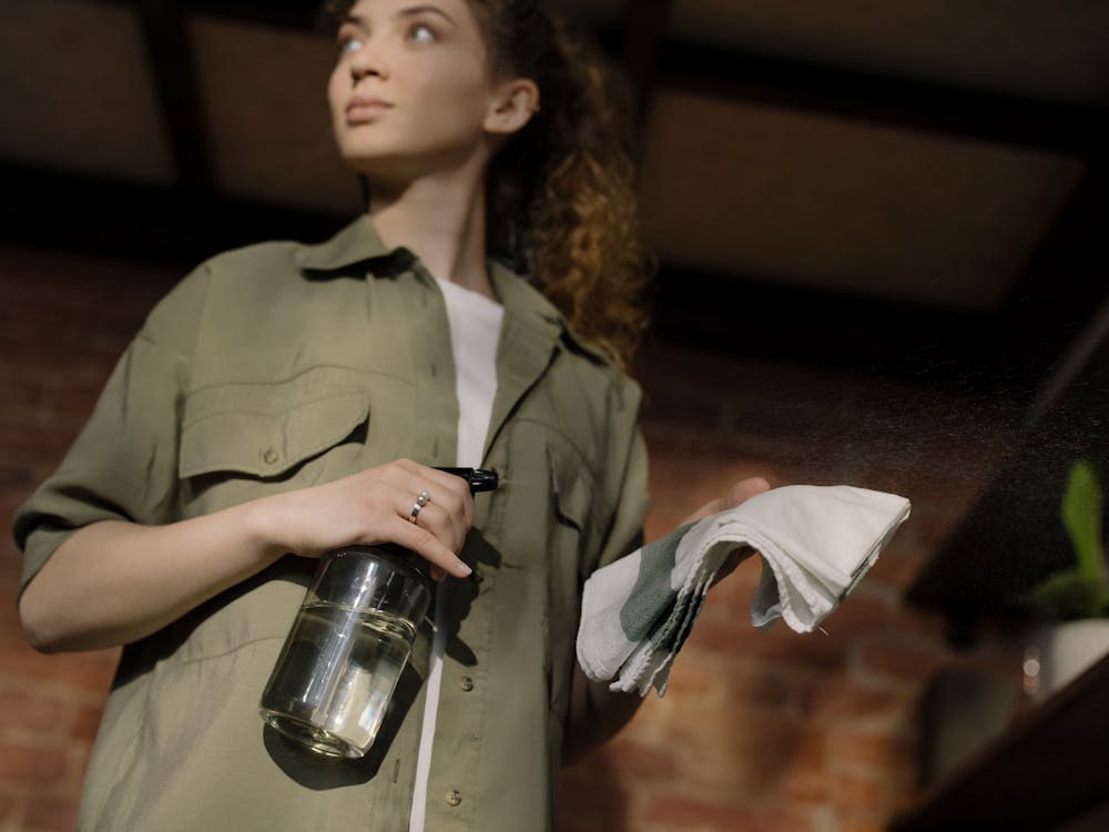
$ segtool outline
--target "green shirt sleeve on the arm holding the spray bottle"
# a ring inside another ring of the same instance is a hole
[[[177,519],[182,399],[207,278],[201,266],[155,306],[57,471],[17,511],[21,591],[77,529]]]

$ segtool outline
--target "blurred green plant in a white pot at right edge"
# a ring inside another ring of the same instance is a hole
[[[1025,684],[1034,699],[1049,696],[1109,652],[1102,501],[1093,466],[1075,463],[1060,506],[1074,566],[1054,572],[1022,598],[1022,606],[1046,621],[1032,630],[1026,650]]]

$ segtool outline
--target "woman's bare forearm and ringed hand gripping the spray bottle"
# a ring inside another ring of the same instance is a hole
[[[430,499],[413,524],[420,491]],[[398,544],[434,577],[465,577],[457,552],[472,522],[466,480],[405,459],[165,526],[101,520],[70,535],[31,579],[20,620],[47,652],[125,645],[286,552],[319,557],[349,544]]]

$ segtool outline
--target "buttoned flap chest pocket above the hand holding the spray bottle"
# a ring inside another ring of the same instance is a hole
[[[177,470],[195,489],[228,479],[307,485],[324,474],[314,461],[364,436],[368,419],[365,379],[339,367],[271,384],[206,387],[185,402]]]

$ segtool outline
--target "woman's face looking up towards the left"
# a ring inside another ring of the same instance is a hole
[[[359,0],[338,31],[327,97],[339,152],[410,181],[488,152],[489,60],[467,0]]]

